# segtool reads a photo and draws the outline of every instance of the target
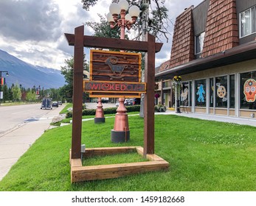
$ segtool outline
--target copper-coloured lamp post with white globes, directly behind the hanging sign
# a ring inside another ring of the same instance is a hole
[[[126,11],[128,13],[126,14]],[[131,25],[136,22],[136,19],[140,13],[139,7],[135,5],[129,5],[128,1],[120,0],[119,3],[113,3],[109,7],[110,13],[107,15],[107,20],[111,29],[120,27],[120,39],[125,39],[125,28],[131,29]],[[118,19],[120,15],[120,19]],[[130,130],[128,125],[128,115],[125,108],[125,99],[118,99],[120,104],[117,108],[117,114],[114,121],[114,129],[111,130],[112,142],[126,142],[130,139]]]

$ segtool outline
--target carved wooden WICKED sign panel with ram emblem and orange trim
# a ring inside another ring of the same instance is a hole
[[[90,97],[140,97],[146,92],[141,82],[141,54],[91,50],[90,81],[83,90]]]

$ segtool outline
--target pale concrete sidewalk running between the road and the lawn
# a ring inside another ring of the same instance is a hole
[[[30,148],[46,129],[52,118],[59,116],[63,107],[54,108],[49,113],[35,121],[26,121],[10,131],[1,135],[0,138],[0,180],[7,174],[10,168],[15,164],[27,149]]]

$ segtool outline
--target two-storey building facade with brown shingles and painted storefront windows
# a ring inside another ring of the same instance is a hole
[[[181,111],[256,118],[256,0],[205,0],[184,10],[156,81],[176,75]],[[171,89],[165,99],[174,102]]]

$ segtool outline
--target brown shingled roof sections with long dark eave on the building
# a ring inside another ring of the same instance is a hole
[[[170,65],[161,65],[156,79],[172,79],[232,63],[255,59],[256,38],[239,45],[235,0],[210,0],[207,11],[204,46],[201,57],[195,58],[193,7],[176,18]]]

